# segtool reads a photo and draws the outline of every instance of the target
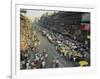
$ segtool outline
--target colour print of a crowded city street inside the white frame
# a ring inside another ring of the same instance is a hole
[[[90,66],[88,12],[20,12],[21,70]]]

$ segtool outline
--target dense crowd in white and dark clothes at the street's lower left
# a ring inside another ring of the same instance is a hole
[[[29,52],[30,51],[30,52]],[[32,55],[33,54],[33,55]],[[21,69],[37,69],[45,68],[48,59],[48,54],[45,50],[43,52],[34,52],[34,49],[30,49],[21,52]]]

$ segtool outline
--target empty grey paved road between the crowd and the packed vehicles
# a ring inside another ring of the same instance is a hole
[[[39,26],[37,26],[39,27]],[[60,61],[60,67],[73,67],[73,64],[69,61],[66,61],[64,58],[62,58],[59,54],[58,51],[56,51],[56,48],[53,44],[51,44],[48,39],[43,36],[40,32],[38,32],[37,29],[37,34],[38,34],[38,38],[40,40],[40,46],[39,48],[41,50],[46,49],[47,53],[48,53],[48,60],[46,62],[46,67],[47,68],[51,68],[52,67],[52,60],[54,58],[58,58]]]

